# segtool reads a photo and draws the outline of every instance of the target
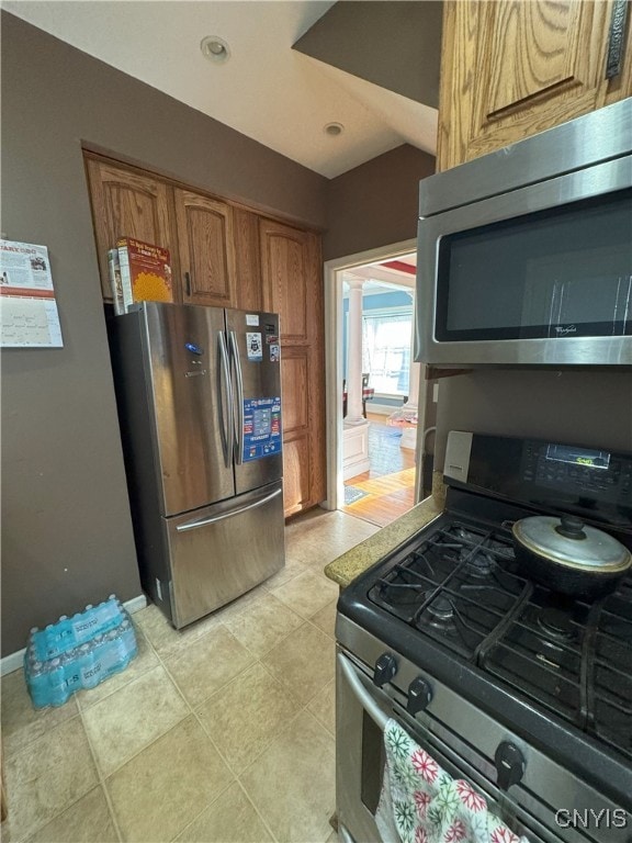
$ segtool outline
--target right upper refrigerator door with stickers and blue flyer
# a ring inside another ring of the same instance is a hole
[[[281,364],[278,355],[271,353],[272,346],[279,347],[279,316],[227,310],[226,331],[233,372],[235,486],[240,494],[283,476],[282,453],[244,460],[244,401],[282,397]],[[252,345],[253,336],[258,337],[258,348]]]

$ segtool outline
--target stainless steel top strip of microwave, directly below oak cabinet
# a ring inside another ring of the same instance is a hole
[[[431,216],[632,151],[632,99],[527,137],[420,182],[419,216]]]

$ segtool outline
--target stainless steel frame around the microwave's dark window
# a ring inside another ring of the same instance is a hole
[[[510,193],[419,221],[415,359],[436,366],[632,364],[632,337],[507,339],[439,342],[435,339],[437,262],[442,237],[534,211],[632,187],[632,158],[607,161]]]

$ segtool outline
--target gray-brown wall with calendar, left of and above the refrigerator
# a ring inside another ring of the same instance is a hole
[[[82,143],[312,225],[327,180],[2,14],[2,233],[48,247],[64,348],[3,349],[2,654],[140,594]]]

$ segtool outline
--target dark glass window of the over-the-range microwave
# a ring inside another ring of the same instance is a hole
[[[632,334],[632,190],[447,235],[438,340]]]

